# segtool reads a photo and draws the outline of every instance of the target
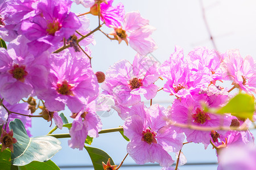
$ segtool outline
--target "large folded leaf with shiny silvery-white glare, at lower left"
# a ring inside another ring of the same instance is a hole
[[[43,135],[30,138],[26,129],[18,118],[11,121],[9,128],[13,129],[13,137],[18,141],[14,143],[14,153],[11,154],[11,163],[13,165],[23,166],[36,160],[38,162],[47,162],[61,150],[60,141],[54,137]]]

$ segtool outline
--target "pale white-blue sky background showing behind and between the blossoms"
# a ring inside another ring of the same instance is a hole
[[[113,5],[122,2],[126,12],[139,11],[143,18],[150,20],[150,25],[156,28],[152,38],[158,45],[151,55],[160,63],[170,57],[174,52],[175,45],[184,49],[186,56],[196,46],[207,46],[213,49],[210,34],[216,44],[217,50],[224,53],[228,49],[239,49],[241,56],[256,56],[256,1],[249,0],[181,0],[181,1],[153,1],[153,0],[114,0]],[[83,6],[72,6],[72,11],[84,13],[88,9]],[[205,20],[204,20],[205,17]],[[97,16],[88,15],[90,29],[97,27]],[[205,23],[207,22],[207,24]],[[103,29],[106,33],[112,31],[110,28]],[[210,34],[209,34],[210,32]],[[94,73],[103,71],[105,73],[110,65],[120,59],[133,61],[135,50],[127,46],[125,42],[118,45],[118,41],[110,41],[101,32],[94,33],[96,45],[91,45],[92,67]],[[156,83],[163,87],[164,81]],[[171,105],[172,97],[160,91],[153,100],[153,104],[163,105],[165,108]],[[149,101],[144,100],[147,105]],[[69,117],[68,109],[64,112]],[[102,129],[117,128],[123,125],[117,112],[111,111],[101,116]],[[71,119],[69,119],[71,120]],[[72,122],[72,121],[70,121]],[[54,126],[49,128],[50,122],[34,118],[32,120],[31,134],[35,136],[46,135]],[[56,130],[55,133],[68,133],[67,128]],[[252,133],[255,135],[256,131]],[[92,162],[86,150],[73,150],[68,147],[68,139],[60,139],[62,150],[57,152],[51,159],[60,169],[93,169]],[[127,141],[119,132],[100,134],[93,139],[92,147],[100,148],[107,152],[115,164],[119,164],[126,155]],[[203,144],[189,143],[182,149],[187,164],[179,169],[217,169],[216,153],[211,146],[207,150]],[[172,158],[176,160],[175,154]],[[158,164],[148,163],[137,165],[134,160],[127,156],[122,169],[161,169]]]

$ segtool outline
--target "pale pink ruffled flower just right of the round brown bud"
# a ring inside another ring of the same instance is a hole
[[[135,56],[133,65],[123,59],[109,67],[101,88],[113,95],[123,107],[137,104],[141,101],[140,95],[147,100],[152,99],[158,91],[158,86],[154,84],[159,77],[157,66],[158,62],[152,57],[139,54]]]

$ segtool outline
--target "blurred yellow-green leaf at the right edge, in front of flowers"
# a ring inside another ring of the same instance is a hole
[[[233,116],[239,118],[249,118],[251,120],[253,118],[254,111],[255,107],[253,96],[247,94],[238,94],[234,96],[228,104],[218,109],[217,113],[231,113]]]

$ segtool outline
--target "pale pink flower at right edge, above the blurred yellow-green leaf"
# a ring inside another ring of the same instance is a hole
[[[253,57],[243,59],[238,50],[228,50],[224,54],[226,79],[233,80],[233,85],[245,92],[256,92],[256,62]]]

